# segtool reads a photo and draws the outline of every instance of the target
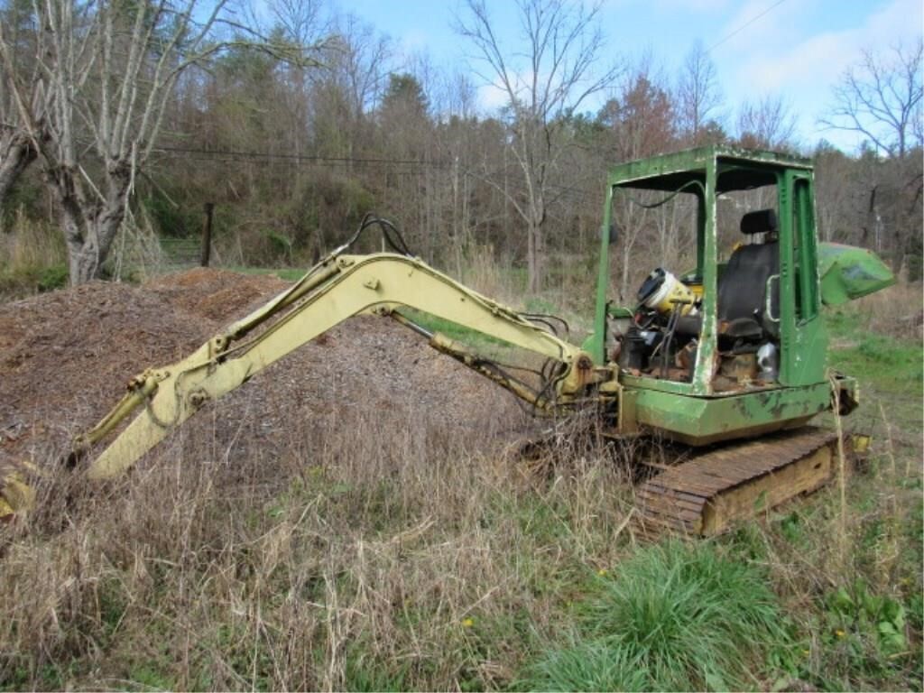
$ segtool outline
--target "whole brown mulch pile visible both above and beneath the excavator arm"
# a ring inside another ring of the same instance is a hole
[[[128,380],[180,359],[285,289],[275,277],[196,269],[144,286],[91,283],[0,305],[0,466],[46,465],[112,407]],[[474,446],[529,426],[512,395],[388,319],[335,327],[201,412],[184,429],[229,456],[273,456],[293,432],[428,426]]]

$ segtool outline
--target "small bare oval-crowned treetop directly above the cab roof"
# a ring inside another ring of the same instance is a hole
[[[693,43],[677,82],[677,111],[680,131],[689,144],[699,145],[710,139],[711,121],[718,117],[722,105],[715,65],[702,42]]]

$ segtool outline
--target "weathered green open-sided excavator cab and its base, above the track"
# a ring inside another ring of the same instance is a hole
[[[830,406],[813,194],[808,160],[725,146],[610,170],[586,346],[619,366],[638,424],[711,444]],[[692,269],[652,268],[615,306],[613,226],[624,244],[673,238]]]

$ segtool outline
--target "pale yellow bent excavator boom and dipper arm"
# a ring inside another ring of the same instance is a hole
[[[557,361],[560,366],[553,379],[553,392],[544,404],[576,399],[588,385],[608,377],[603,370],[595,370],[590,356],[577,346],[422,261],[392,253],[334,252],[297,284],[229,325],[186,359],[136,376],[122,401],[90,432],[79,436],[75,451],[88,450],[140,409],[87,469],[91,479],[114,477],[207,402],[246,383],[338,322],[363,312],[389,314],[401,306],[431,313]],[[264,329],[257,331],[261,327]],[[245,338],[250,333],[255,334]],[[466,362],[464,352],[442,335],[433,335],[432,344]],[[510,389],[524,396],[517,387]]]

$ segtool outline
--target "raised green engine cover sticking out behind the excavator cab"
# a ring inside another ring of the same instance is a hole
[[[867,249],[820,243],[818,255],[821,301],[826,306],[840,306],[895,283],[892,270]]]

